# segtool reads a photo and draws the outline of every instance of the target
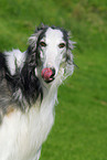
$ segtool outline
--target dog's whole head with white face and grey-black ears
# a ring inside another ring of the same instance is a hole
[[[73,42],[67,32],[55,26],[43,26],[30,38],[30,45],[35,51],[38,64],[41,64],[41,75],[44,82],[56,78],[61,67],[67,73],[73,70]]]

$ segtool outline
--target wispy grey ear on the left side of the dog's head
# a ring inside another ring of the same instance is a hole
[[[31,45],[31,47],[33,49],[33,51],[35,51],[35,49],[36,49],[36,42],[38,42],[38,39],[39,39],[40,34],[46,28],[47,28],[47,25],[44,25],[43,23],[41,23],[41,25],[39,28],[35,26],[34,34],[32,34],[29,38],[29,44]]]

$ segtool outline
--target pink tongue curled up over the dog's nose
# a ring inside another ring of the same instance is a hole
[[[52,70],[49,67],[43,68],[41,75],[44,78],[44,81],[51,81]]]

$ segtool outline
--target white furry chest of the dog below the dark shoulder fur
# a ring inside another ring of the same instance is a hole
[[[0,127],[0,160],[33,160],[53,125],[52,109],[13,111]]]

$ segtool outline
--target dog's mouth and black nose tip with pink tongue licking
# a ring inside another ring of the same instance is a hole
[[[45,83],[51,83],[55,79],[55,70],[45,67],[42,70],[41,75]]]

